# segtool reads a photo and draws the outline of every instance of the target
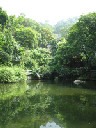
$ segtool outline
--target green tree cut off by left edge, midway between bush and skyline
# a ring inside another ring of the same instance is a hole
[[[11,64],[14,57],[15,39],[11,31],[4,28],[0,32],[0,64]]]

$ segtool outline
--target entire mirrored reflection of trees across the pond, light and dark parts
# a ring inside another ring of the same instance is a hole
[[[12,124],[20,128],[21,125],[26,128],[39,128],[52,120],[60,124],[60,127],[62,124],[64,128],[77,128],[76,125],[80,122],[96,121],[95,95],[57,95],[58,90],[53,95],[49,87],[38,83],[29,85],[27,91],[26,86],[23,88],[22,85],[22,89],[20,85],[15,85],[14,88],[10,86],[7,90],[6,87],[6,93],[3,88],[0,91],[1,128],[7,128],[6,125],[11,128]]]

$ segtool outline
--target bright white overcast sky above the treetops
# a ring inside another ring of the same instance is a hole
[[[56,22],[96,12],[96,0],[0,0],[0,7],[9,15],[20,15],[37,22]]]

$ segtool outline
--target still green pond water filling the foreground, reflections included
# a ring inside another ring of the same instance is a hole
[[[0,84],[0,128],[96,128],[96,83]]]

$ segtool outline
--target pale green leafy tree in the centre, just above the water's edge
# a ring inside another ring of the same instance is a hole
[[[51,52],[46,48],[37,48],[26,51],[25,67],[31,69],[33,74],[39,73],[41,77],[50,73]]]

